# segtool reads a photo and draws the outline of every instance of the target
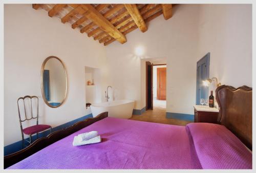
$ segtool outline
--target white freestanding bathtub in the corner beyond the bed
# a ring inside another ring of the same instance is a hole
[[[102,112],[109,112],[109,117],[128,119],[133,114],[134,100],[115,100],[95,103],[90,107],[93,117],[96,117]]]

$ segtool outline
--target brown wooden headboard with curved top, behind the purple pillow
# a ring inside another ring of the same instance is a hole
[[[218,122],[252,150],[252,88],[222,85],[216,89],[220,106]]]

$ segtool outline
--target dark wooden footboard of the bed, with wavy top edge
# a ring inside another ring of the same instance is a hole
[[[37,140],[35,140],[31,145],[28,147],[19,150],[18,152],[15,152],[13,154],[7,155],[4,157],[4,168],[7,168],[19,161],[22,161],[23,159],[33,155],[34,153],[38,152],[42,148],[45,148],[52,143],[65,138],[80,129],[87,127],[99,120],[102,120],[104,118],[108,117],[108,112],[104,112],[99,114],[95,118],[88,118],[86,120],[79,121],[72,126],[65,128],[65,129],[60,129],[59,131],[55,131],[51,134],[49,134],[47,137],[42,137]]]

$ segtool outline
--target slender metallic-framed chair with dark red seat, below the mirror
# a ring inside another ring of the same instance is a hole
[[[25,104],[25,99],[28,98],[30,99],[30,106],[31,106],[31,116],[27,117],[27,112],[26,112],[26,104]],[[37,99],[37,114],[36,117],[33,116],[33,107],[32,107],[32,99],[36,98]],[[25,112],[25,119],[22,120],[22,118],[20,117],[20,109],[19,109],[19,100],[22,99],[23,100],[23,105],[24,105],[24,112]],[[50,133],[52,132],[52,127],[50,125],[46,125],[46,124],[38,124],[38,97],[37,96],[25,96],[25,97],[20,97],[17,100],[17,104],[18,104],[18,117],[19,117],[19,125],[20,125],[20,131],[22,132],[22,145],[23,147],[25,146],[25,140],[24,139],[24,134],[29,135],[29,141],[26,140],[29,144],[32,143],[32,135],[36,134],[37,138],[38,138],[38,133],[45,131],[46,129],[50,129]],[[31,120],[31,119],[36,119],[36,125],[32,125],[29,126],[27,128],[23,129],[22,126],[22,122],[26,121],[26,120]]]

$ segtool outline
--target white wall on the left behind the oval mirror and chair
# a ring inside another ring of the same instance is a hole
[[[98,41],[29,4],[4,6],[4,36],[4,145],[21,140],[18,97],[39,96],[39,123],[53,127],[88,114],[84,67],[104,64],[105,49]],[[65,63],[69,79],[68,98],[54,109],[44,103],[40,90],[42,62],[52,55]]]

